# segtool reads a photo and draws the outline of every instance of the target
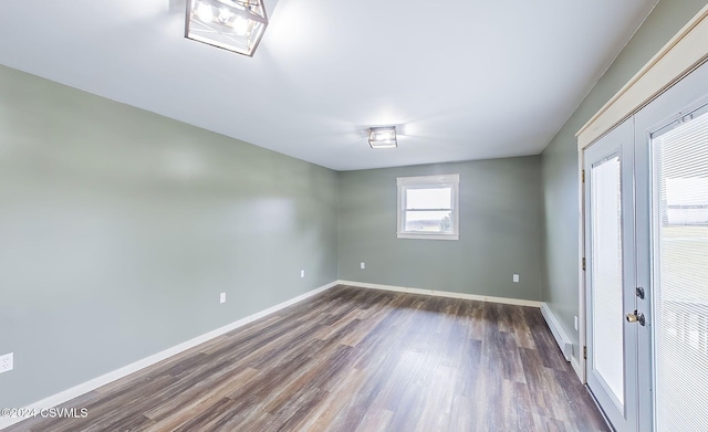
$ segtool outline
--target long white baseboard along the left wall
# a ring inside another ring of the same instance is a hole
[[[126,377],[131,373],[137,372],[140,369],[147,368],[148,366],[155,365],[159,361],[163,361],[171,356],[175,356],[179,352],[186,351],[187,349],[194,348],[199,344],[204,344],[207,340],[214,339],[215,337],[221,336],[223,334],[227,334],[236,328],[239,328],[241,326],[244,326],[249,323],[254,322],[256,319],[262,318],[267,315],[270,315],[274,312],[278,312],[280,309],[283,309],[290,305],[293,305],[298,302],[301,302],[308,297],[311,297],[315,294],[320,294],[323,291],[326,291],[335,285],[337,285],[339,282],[331,282],[326,285],[320,286],[319,288],[309,291],[304,294],[301,294],[296,297],[293,297],[289,301],[285,301],[283,303],[280,303],[275,306],[269,307],[268,309],[264,310],[260,310],[257,312],[256,314],[249,315],[247,317],[243,317],[237,322],[233,322],[231,324],[228,324],[223,327],[219,327],[216,330],[211,330],[209,333],[206,333],[204,335],[197,336],[192,339],[189,339],[185,343],[181,343],[179,345],[176,345],[171,348],[167,348],[163,351],[159,351],[157,354],[154,354],[149,357],[146,357],[142,360],[135,361],[131,365],[124,366],[119,369],[116,369],[112,372],[102,375],[101,377],[94,378],[90,381],[83,382],[79,386],[72,387],[71,389],[61,391],[56,394],[52,394],[49,398],[42,399],[38,402],[34,402],[28,407],[25,407],[25,410],[37,410],[38,412],[42,409],[46,409],[46,408],[53,408],[56,407],[61,403],[67,402],[76,397],[80,397],[82,394],[85,394],[90,391],[93,391],[100,387],[103,387],[110,382],[113,382],[115,380],[118,380],[123,377]],[[0,418],[0,430],[3,428],[8,428],[14,423],[19,423],[20,421],[24,420],[24,418]]]

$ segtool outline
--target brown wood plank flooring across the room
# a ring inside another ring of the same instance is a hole
[[[606,431],[537,308],[337,286],[7,431]]]

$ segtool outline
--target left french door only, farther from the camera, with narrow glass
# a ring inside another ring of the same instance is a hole
[[[585,150],[587,386],[618,431],[635,431],[637,326],[634,313],[634,123]],[[638,315],[638,313],[637,313]]]

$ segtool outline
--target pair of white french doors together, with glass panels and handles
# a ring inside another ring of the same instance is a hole
[[[583,156],[587,386],[617,431],[708,431],[708,64]]]

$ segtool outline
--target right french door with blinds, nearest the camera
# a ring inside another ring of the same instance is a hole
[[[650,431],[708,431],[708,64],[635,115]]]

